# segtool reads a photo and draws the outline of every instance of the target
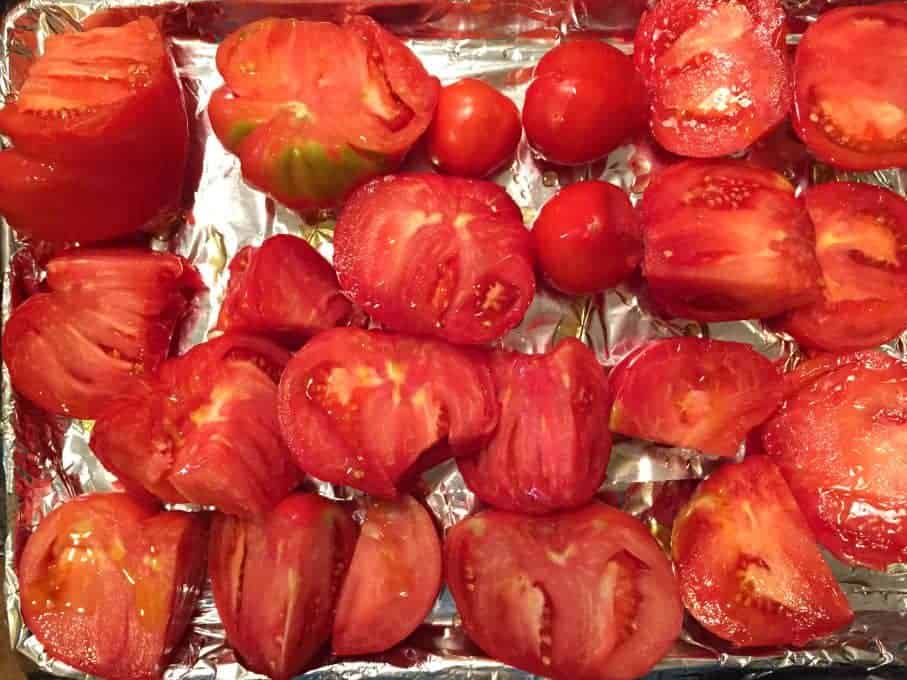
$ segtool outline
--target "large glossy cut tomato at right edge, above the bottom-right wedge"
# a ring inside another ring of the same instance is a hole
[[[836,557],[907,562],[907,365],[877,352],[817,361],[795,372],[765,450]]]

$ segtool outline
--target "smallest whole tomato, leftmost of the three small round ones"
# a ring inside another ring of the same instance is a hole
[[[443,172],[485,177],[513,158],[522,136],[516,104],[488,83],[464,78],[441,90],[428,153]]]

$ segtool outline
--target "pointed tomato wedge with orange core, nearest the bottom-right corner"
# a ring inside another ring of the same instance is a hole
[[[671,540],[683,603],[740,647],[803,646],[853,619],[778,468],[728,463],[700,484]]]

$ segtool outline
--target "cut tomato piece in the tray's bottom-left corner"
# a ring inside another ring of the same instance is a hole
[[[111,680],[159,678],[205,577],[207,518],[125,494],[58,506],[19,561],[22,615],[47,653]]]

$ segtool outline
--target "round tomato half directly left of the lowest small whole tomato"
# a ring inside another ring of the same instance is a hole
[[[334,266],[387,328],[454,343],[500,338],[535,294],[520,209],[480,180],[405,174],[362,187],[337,222]]]

